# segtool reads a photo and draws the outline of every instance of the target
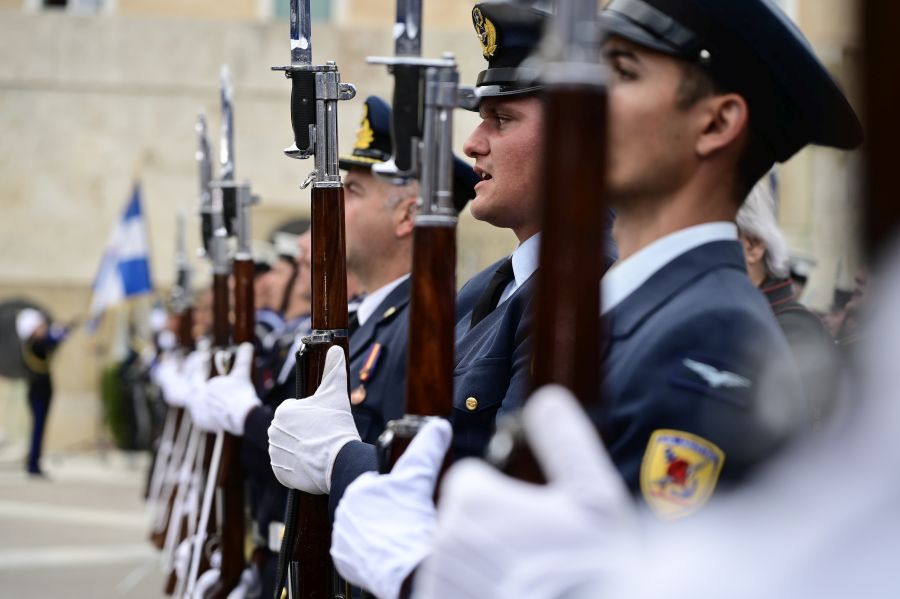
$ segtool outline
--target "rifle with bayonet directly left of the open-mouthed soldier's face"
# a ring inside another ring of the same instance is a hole
[[[378,439],[379,469],[389,472],[431,416],[453,409],[456,223],[453,109],[459,73],[452,54],[422,59],[421,0],[397,0],[393,57],[369,57],[394,75],[393,156],[373,171],[395,184],[419,179],[413,231],[405,415]]]

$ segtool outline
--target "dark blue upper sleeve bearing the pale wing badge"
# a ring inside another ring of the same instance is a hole
[[[609,385],[616,391],[604,424],[613,461],[637,492],[654,460],[675,463],[678,452],[658,442],[669,435],[695,450],[695,462],[721,462],[723,482],[737,480],[805,421],[787,344],[774,321],[740,309],[666,325],[632,341],[627,365],[608,373],[624,379]]]

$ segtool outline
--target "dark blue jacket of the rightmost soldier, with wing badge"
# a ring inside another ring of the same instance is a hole
[[[716,444],[725,454],[727,484],[803,421],[790,350],[747,277],[738,242],[707,243],[675,258],[614,307],[607,323],[605,408],[592,415],[632,490],[656,430]],[[697,372],[698,364],[749,385],[716,385],[715,377]]]

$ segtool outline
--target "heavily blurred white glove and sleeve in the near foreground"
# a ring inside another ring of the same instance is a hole
[[[821,436],[665,526],[635,509],[572,398],[541,390],[525,428],[549,484],[513,481],[474,460],[454,466],[416,596],[896,597],[900,253],[891,258],[856,348],[861,368],[843,381],[839,413]]]

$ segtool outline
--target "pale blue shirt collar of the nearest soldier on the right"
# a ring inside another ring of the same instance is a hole
[[[707,243],[737,239],[737,226],[731,222],[695,225],[657,239],[607,271],[601,285],[603,313],[613,310],[675,258]]]

